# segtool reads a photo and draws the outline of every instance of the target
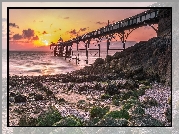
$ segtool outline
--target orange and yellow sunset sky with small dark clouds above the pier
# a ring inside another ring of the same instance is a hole
[[[64,41],[141,13],[147,9],[10,9],[9,48],[30,50]],[[7,13],[6,13],[7,14]],[[7,42],[7,17],[2,15],[2,42]],[[128,32],[128,31],[126,31]],[[156,36],[145,26],[134,30],[127,41],[144,41]],[[117,39],[119,40],[119,39]]]

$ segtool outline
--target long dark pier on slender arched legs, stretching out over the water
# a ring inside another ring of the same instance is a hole
[[[154,28],[154,24],[158,24],[159,22],[159,16],[158,16],[159,9],[149,9],[146,10],[140,14],[137,14],[135,16],[128,17],[126,19],[117,21],[113,24],[109,24],[108,20],[108,25],[101,27],[97,30],[88,32],[84,35],[78,36],[76,38],[63,41],[63,39],[60,37],[58,42],[51,43],[50,49],[54,51],[54,56],[59,56],[59,57],[64,57],[65,60],[67,58],[70,59],[75,59],[76,64],[79,63],[79,53],[74,54],[72,51],[72,46],[75,43],[77,45],[76,50],[77,52],[79,51],[85,51],[86,52],[86,64],[88,64],[88,58],[89,58],[89,51],[96,50],[98,51],[99,57],[100,57],[100,52],[101,52],[101,44],[100,42],[102,41],[103,38],[106,38],[107,42],[107,55],[109,50],[125,50],[125,43],[129,35],[134,31],[135,29],[142,27],[142,26],[151,26],[157,33],[158,29]],[[128,33],[125,33],[125,31],[128,30]],[[110,48],[110,43],[112,39],[116,39],[116,36],[119,36],[120,41],[123,44],[123,48],[119,49],[114,49]],[[95,39],[98,44],[98,48],[90,48],[90,41],[92,39]],[[84,42],[85,43],[85,48],[79,48],[79,43]]]

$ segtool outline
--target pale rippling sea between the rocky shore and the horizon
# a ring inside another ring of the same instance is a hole
[[[126,42],[126,48],[134,45],[134,42]],[[110,48],[116,48],[121,43],[113,43]],[[104,45],[105,46],[105,45]],[[119,47],[118,47],[119,48]],[[108,55],[113,55],[119,50],[110,50]],[[7,70],[9,75],[28,75],[28,76],[39,76],[39,75],[55,75],[60,73],[67,73],[75,70],[79,70],[84,66],[89,66],[97,58],[99,58],[98,51],[89,51],[88,64],[86,64],[86,52],[85,51],[74,51],[74,55],[79,53],[79,63],[76,64],[75,59],[64,57],[55,57],[53,51],[9,51],[7,56],[7,50],[3,50],[2,53],[2,75],[7,77]],[[102,48],[100,58],[105,58],[107,55],[106,48]],[[75,57],[75,56],[73,56]],[[9,59],[9,61],[7,60]],[[7,61],[9,65],[7,66]],[[7,68],[9,67],[9,68]]]

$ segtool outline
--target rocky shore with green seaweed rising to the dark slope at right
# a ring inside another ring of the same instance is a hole
[[[171,126],[170,39],[67,74],[9,76],[9,125]]]

